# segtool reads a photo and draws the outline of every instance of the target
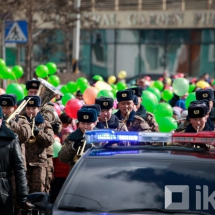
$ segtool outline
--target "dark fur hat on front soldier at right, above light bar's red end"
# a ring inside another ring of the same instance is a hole
[[[196,104],[192,103],[188,107],[188,117],[189,118],[201,118],[207,115],[207,105],[205,103]]]

